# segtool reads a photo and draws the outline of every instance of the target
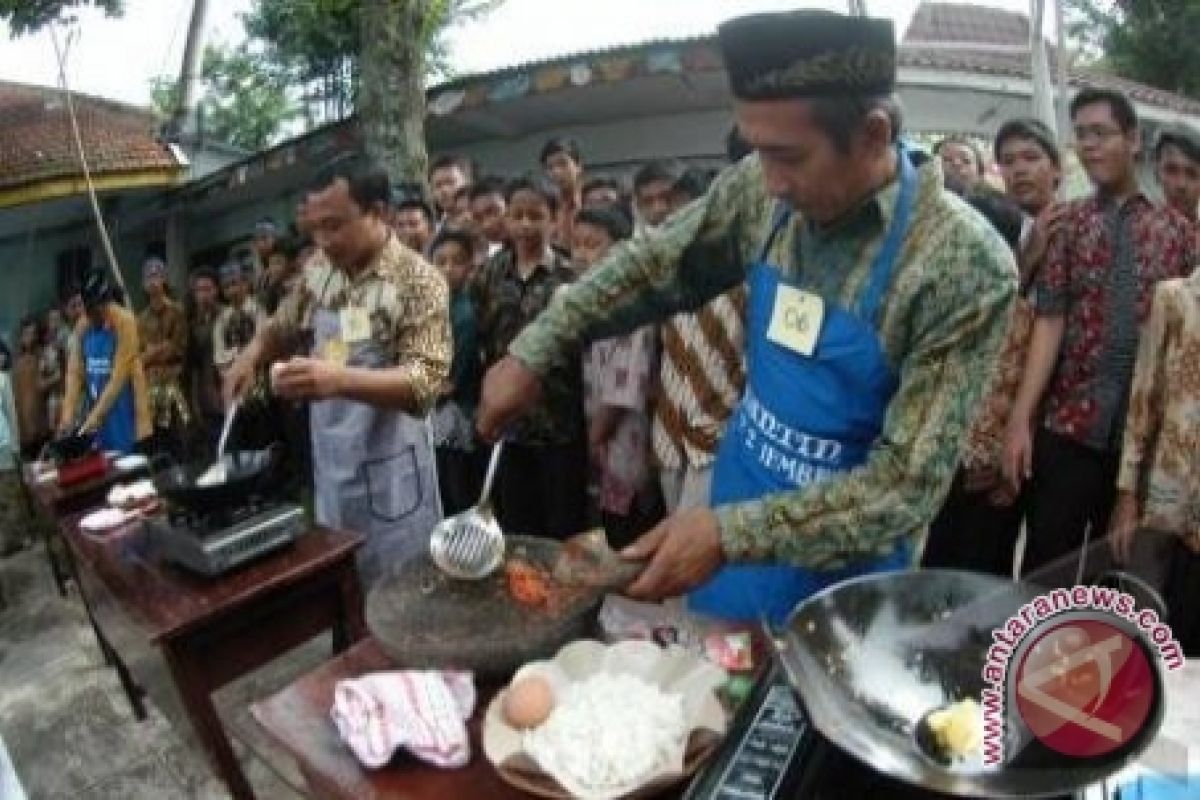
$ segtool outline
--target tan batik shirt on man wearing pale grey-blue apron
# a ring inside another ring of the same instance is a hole
[[[312,331],[318,309],[337,313],[350,307],[370,315],[371,339],[384,363],[404,372],[412,396],[404,410],[415,416],[427,414],[450,372],[450,295],[445,278],[394,234],[354,277],[318,251],[271,317],[271,325],[282,335]]]

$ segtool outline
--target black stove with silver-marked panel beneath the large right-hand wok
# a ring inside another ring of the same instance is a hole
[[[738,710],[725,746],[684,800],[948,800],[955,795],[895,781],[829,744],[809,724],[773,660]],[[1075,800],[1067,795],[1061,800]]]

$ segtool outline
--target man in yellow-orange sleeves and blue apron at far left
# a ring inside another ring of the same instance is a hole
[[[102,270],[88,275],[80,294],[86,314],[70,348],[59,433],[91,431],[102,450],[130,453],[152,433],[138,323],[114,302]],[[77,426],[82,397],[86,417]]]

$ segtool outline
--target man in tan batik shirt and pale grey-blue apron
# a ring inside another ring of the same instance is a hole
[[[384,222],[385,173],[355,161],[323,172],[305,209],[320,248],[226,377],[240,396],[296,333],[308,356],[271,369],[282,397],[311,401],[320,524],[365,534],[366,583],[424,553],[442,519],[426,414],[450,369],[440,272]]]

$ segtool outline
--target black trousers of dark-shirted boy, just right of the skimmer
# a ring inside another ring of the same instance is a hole
[[[587,529],[588,457],[581,438],[565,445],[506,443],[496,487],[505,534],[566,539]]]

